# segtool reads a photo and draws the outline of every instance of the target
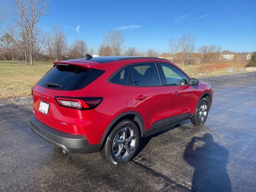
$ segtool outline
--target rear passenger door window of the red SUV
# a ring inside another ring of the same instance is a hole
[[[131,67],[129,85],[140,87],[161,86],[156,64],[134,64]]]

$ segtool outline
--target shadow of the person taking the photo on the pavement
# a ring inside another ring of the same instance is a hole
[[[193,137],[186,146],[183,158],[194,167],[192,191],[232,191],[226,170],[228,150],[214,142],[211,134]]]

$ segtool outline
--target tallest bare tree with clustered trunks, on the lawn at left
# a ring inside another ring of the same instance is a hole
[[[8,21],[22,32],[25,47],[26,64],[33,65],[35,54],[34,42],[36,38],[36,26],[40,18],[45,14],[49,6],[48,0],[9,0],[6,1],[8,8]],[[37,30],[38,31],[38,30]],[[27,59],[29,56],[29,62]]]

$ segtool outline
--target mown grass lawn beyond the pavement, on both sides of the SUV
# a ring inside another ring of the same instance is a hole
[[[26,66],[24,62],[18,65],[16,61],[0,60],[0,100],[20,96],[29,96],[31,87],[52,68],[53,62],[34,62],[33,66]],[[183,69],[182,65],[178,66]],[[200,65],[192,66],[192,74]],[[235,68],[237,73],[239,68]],[[184,71],[190,75],[190,65],[184,66]],[[211,72],[204,76],[227,74],[227,70]],[[199,77],[199,76],[196,76]]]

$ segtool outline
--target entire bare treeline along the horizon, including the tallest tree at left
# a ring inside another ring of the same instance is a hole
[[[9,0],[1,9],[0,26],[5,31],[0,31],[0,59],[25,61],[33,65],[37,61],[66,60],[84,58],[86,54],[100,56],[148,56],[158,57],[159,53],[153,49],[146,52],[136,47],[124,47],[125,36],[122,31],[110,30],[102,39],[98,50],[89,48],[82,39],[77,39],[72,44],[67,44],[63,26],[55,24],[48,32],[40,26],[42,16],[48,15],[48,0]],[[218,58],[220,47],[200,46],[198,53],[195,46],[195,36],[183,34],[180,38],[170,38],[168,45],[172,54],[172,61],[182,64],[198,62],[208,63]]]

